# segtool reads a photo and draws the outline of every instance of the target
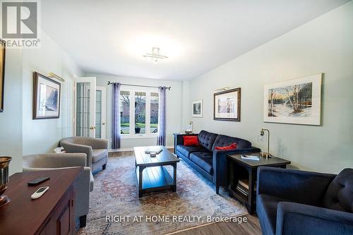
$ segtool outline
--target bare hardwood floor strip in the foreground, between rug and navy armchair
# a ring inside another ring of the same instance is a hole
[[[258,218],[252,215],[244,215],[247,222],[216,222],[189,230],[179,231],[176,235],[210,235],[210,234],[241,234],[261,235],[261,227]]]

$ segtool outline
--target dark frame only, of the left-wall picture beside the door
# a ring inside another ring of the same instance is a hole
[[[58,88],[58,102],[57,102],[57,115],[40,115],[37,112],[37,102],[38,102],[38,97],[39,97],[39,90],[38,90],[38,81],[40,78],[47,80],[49,83],[52,83],[53,85],[59,86]],[[56,80],[52,80],[51,78],[48,78],[47,76],[44,76],[40,73],[33,72],[33,119],[59,119],[60,117],[60,95],[61,95],[61,83],[57,82]]]

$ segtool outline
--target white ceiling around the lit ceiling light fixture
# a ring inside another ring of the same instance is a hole
[[[347,1],[44,0],[42,29],[86,73],[187,80]]]

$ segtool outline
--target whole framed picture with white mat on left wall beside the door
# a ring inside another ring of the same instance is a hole
[[[33,73],[33,119],[59,119],[60,83]]]

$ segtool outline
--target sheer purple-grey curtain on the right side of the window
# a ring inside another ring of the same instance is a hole
[[[158,88],[159,95],[159,108],[158,108],[158,135],[157,135],[157,145],[165,146],[165,110],[166,110],[166,102],[165,102],[165,87]]]

